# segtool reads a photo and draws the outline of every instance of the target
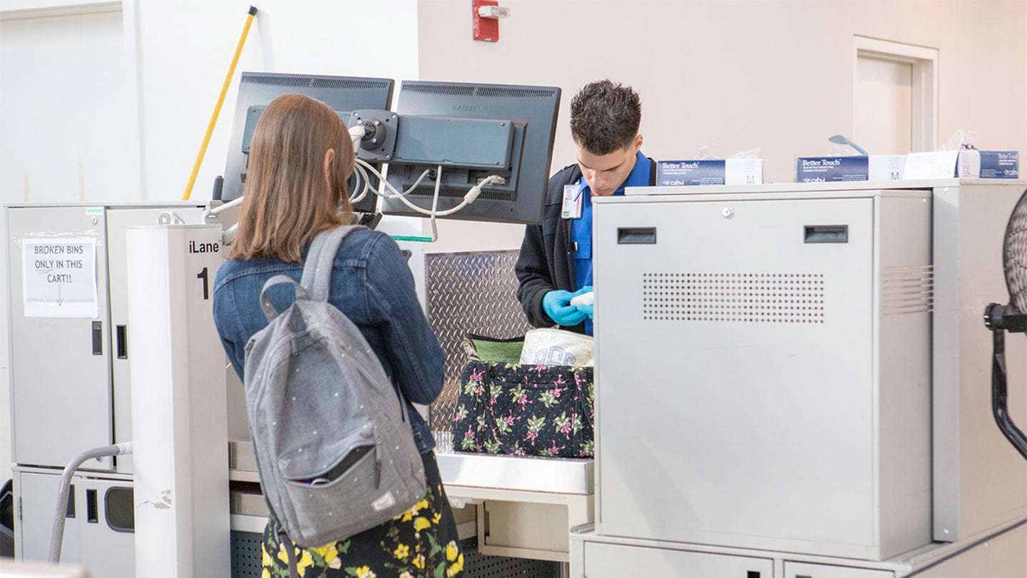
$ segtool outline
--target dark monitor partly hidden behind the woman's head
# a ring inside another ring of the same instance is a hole
[[[289,93],[299,93],[317,99],[332,107],[348,124],[350,113],[357,109],[387,109],[392,101],[391,78],[362,78],[351,76],[317,76],[311,74],[280,74],[274,72],[243,72],[239,93],[235,100],[235,120],[232,140],[228,145],[225,177],[221,198],[231,201],[242,194],[245,183],[250,138],[257,127],[260,113],[275,98]],[[372,177],[371,186],[378,181]],[[355,177],[349,180],[350,195],[354,192]],[[358,191],[357,191],[358,192]],[[377,196],[373,192],[355,203],[353,211],[371,213]]]

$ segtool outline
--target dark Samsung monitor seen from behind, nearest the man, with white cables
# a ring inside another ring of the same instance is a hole
[[[560,88],[555,86],[405,80],[395,108],[400,124],[395,152],[388,161],[388,182],[405,191],[426,170],[442,165],[436,210],[444,211],[459,205],[485,177],[499,175],[505,184],[483,187],[472,204],[448,218],[539,223],[559,106]],[[460,119],[500,122],[476,125]],[[431,209],[434,191],[432,173],[407,198]],[[381,211],[424,216],[395,198],[382,198]]]

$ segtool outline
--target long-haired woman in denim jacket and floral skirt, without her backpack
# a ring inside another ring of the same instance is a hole
[[[245,345],[267,324],[260,306],[264,283],[279,274],[299,282],[314,237],[353,222],[346,193],[353,161],[345,124],[309,97],[278,97],[257,122],[236,238],[214,289],[215,324],[240,378]],[[291,302],[290,290],[282,287],[272,288],[270,297],[277,311]],[[335,257],[329,301],[360,329],[408,403],[426,404],[439,396],[442,348],[391,238],[369,229],[346,237]],[[263,577],[289,576],[289,548],[305,578],[462,575],[463,554],[434,440],[413,406],[408,413],[424,462],[424,499],[379,527],[315,548],[280,540],[269,520],[262,542]]]

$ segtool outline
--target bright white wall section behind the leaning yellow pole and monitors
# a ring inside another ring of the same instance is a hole
[[[185,190],[245,22],[246,2],[126,0],[135,6],[147,200]],[[239,72],[416,78],[414,0],[267,0],[250,31],[192,197],[225,169]]]

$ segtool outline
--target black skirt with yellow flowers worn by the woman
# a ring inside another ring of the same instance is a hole
[[[303,578],[450,578],[463,576],[463,553],[453,510],[443,490],[434,451],[421,455],[424,499],[391,520],[319,548],[280,543],[269,522],[261,543],[262,578],[289,578],[289,553],[296,551]]]

